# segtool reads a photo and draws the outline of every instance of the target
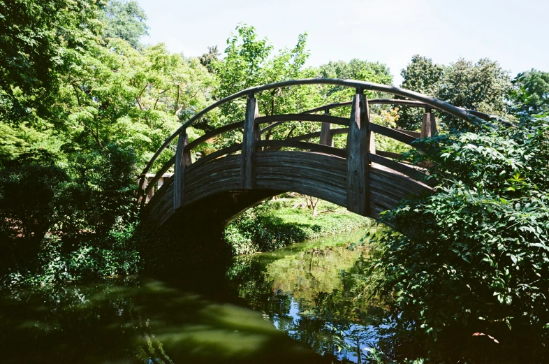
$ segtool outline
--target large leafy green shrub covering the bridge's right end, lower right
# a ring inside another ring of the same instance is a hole
[[[376,293],[390,357],[541,362],[549,343],[549,119],[425,140],[430,196],[385,215]],[[418,348],[417,343],[423,343]],[[499,342],[500,344],[497,344]],[[482,348],[482,349],[481,349]]]

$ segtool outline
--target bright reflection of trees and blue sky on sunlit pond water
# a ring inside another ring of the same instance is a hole
[[[360,363],[383,316],[361,298],[366,259],[365,250],[346,247],[308,249],[271,261],[248,257],[237,261],[233,281],[240,297],[294,340],[324,356]]]

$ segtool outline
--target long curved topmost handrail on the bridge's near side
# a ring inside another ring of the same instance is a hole
[[[210,112],[215,108],[219,108],[219,106],[224,105],[225,103],[228,103],[235,99],[238,99],[242,96],[252,95],[252,94],[256,94],[262,91],[267,91],[270,89],[278,89],[281,87],[291,87],[291,86],[298,86],[298,85],[338,85],[338,86],[356,88],[362,91],[368,90],[368,91],[385,92],[387,94],[394,94],[402,97],[407,97],[409,99],[412,99],[413,101],[418,101],[420,103],[428,105],[430,108],[448,112],[448,114],[453,115],[459,119],[463,119],[466,122],[469,122],[472,117],[478,117],[478,115],[480,115],[478,114],[478,112],[473,113],[463,108],[457,108],[454,105],[451,105],[444,101],[440,101],[438,99],[434,99],[434,97],[431,97],[431,96],[419,94],[418,92],[413,92],[408,89],[401,89],[400,87],[380,85],[374,82],[366,82],[366,81],[358,81],[358,80],[342,80],[339,78],[304,78],[301,80],[288,80],[288,81],[274,82],[268,85],[256,86],[256,87],[250,87],[249,89],[244,89],[240,92],[227,96],[224,99],[221,99],[215,103],[212,103],[211,105],[207,106],[207,108],[204,108],[203,110],[198,112],[196,115],[191,117],[191,119],[184,122],[179,129],[177,129],[171,136],[169,136],[164,141],[164,143],[159,147],[159,149],[156,150],[156,152],[152,156],[149,163],[147,163],[147,166],[145,166],[141,175],[147,174],[147,172],[150,170],[150,168],[152,168],[154,162],[156,161],[158,156],[161,154],[161,152],[163,152],[163,150],[165,150],[166,147],[170,145],[170,143],[175,139],[175,137],[179,136],[180,133],[182,133],[182,131],[184,131],[187,127],[191,126],[193,122],[195,122],[197,119],[200,119],[200,117],[203,117],[203,115],[207,114],[207,112]],[[142,188],[142,183],[140,184],[140,188]]]

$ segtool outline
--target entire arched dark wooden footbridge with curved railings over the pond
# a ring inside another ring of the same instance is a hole
[[[352,87],[356,89],[356,95],[348,103],[325,105],[300,114],[258,114],[255,94],[312,84]],[[409,100],[367,100],[365,90],[394,94]],[[186,136],[188,126],[214,108],[241,97],[247,97],[244,121],[214,129],[189,143]],[[390,129],[370,122],[369,105],[374,103],[424,108],[421,133]],[[331,109],[345,105],[351,105],[350,118],[330,115]],[[425,184],[423,171],[400,161],[400,154],[376,151],[374,136],[380,134],[420,148],[420,143],[413,143],[416,138],[431,136],[437,131],[432,109],[464,120],[472,117],[490,119],[488,115],[457,108],[430,96],[354,80],[292,80],[243,90],[198,112],[163,143],[142,173],[140,201],[145,206],[143,212],[158,226],[167,221],[191,226],[204,222],[209,226],[222,226],[235,214],[269,196],[295,191],[336,203],[363,216],[378,218],[380,212],[394,208],[402,198],[428,191],[430,187]],[[266,131],[291,121],[320,122],[321,131],[284,140],[261,139]],[[332,125],[342,127],[332,129]],[[261,126],[264,126],[263,129]],[[242,143],[224,147],[191,162],[193,148],[235,129],[243,131]],[[333,146],[333,136],[337,134],[347,135],[345,149]],[[176,137],[175,156],[154,177],[147,178],[147,172],[158,156]],[[305,141],[314,138],[319,138],[320,143]],[[175,174],[166,177],[165,173],[174,165]]]

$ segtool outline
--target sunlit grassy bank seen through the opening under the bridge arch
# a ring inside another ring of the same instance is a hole
[[[312,204],[316,203],[316,215]],[[284,194],[237,217],[224,231],[234,255],[271,252],[296,242],[356,231],[373,220],[328,201]]]

